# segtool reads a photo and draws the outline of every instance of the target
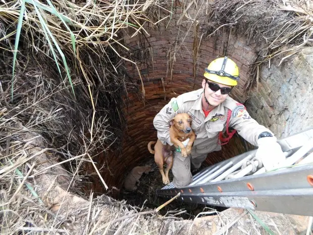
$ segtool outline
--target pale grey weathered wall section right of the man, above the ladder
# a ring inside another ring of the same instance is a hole
[[[258,87],[253,86],[246,101],[250,114],[278,138],[313,126],[313,48],[278,66],[280,61],[262,66]]]

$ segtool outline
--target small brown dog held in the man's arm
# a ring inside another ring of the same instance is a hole
[[[196,138],[195,133],[190,128],[191,118],[186,113],[177,114],[170,121],[170,137],[171,142],[174,144],[170,146],[168,144],[163,145],[162,142],[158,139],[156,144],[154,145],[154,151],[151,149],[151,145],[155,143],[155,141],[150,141],[148,144],[148,150],[151,154],[154,154],[154,161],[159,166],[162,180],[164,184],[169,184],[169,171],[173,166],[173,153],[176,149],[181,150],[181,155],[183,157],[187,157],[187,155],[191,152],[192,144]],[[184,142],[187,138],[189,138],[189,142],[185,148],[182,142]],[[179,147],[179,148],[178,148]],[[176,149],[175,149],[176,148]],[[163,165],[166,162],[167,167],[164,173]]]

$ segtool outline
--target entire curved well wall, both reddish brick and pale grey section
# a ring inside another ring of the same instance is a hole
[[[222,28],[209,37],[201,36],[203,25],[196,27],[186,20],[178,26],[179,18],[178,12],[170,21],[164,21],[158,27],[146,27],[149,35],[144,33],[132,36],[134,31],[125,32],[125,43],[130,48],[129,59],[136,62],[141,74],[144,99],[140,92],[128,94],[128,108],[124,110],[127,129],[122,154],[107,152],[107,156],[101,155],[97,159],[99,166],[105,166],[102,175],[111,187],[121,189],[123,179],[130,169],[153,158],[147,151],[147,144],[150,140],[156,140],[152,124],[156,113],[171,98],[201,88],[204,68],[212,60],[224,55],[234,60],[240,69],[240,81],[231,97],[245,104],[251,116],[270,127],[278,137],[306,128],[313,121],[312,109],[304,111],[301,108],[309,106],[307,99],[312,100],[312,79],[311,75],[308,76],[313,74],[311,51],[293,56],[289,63],[284,62],[280,67],[280,58],[272,60],[270,68],[268,64],[262,65],[258,85],[254,82],[251,86],[250,65],[255,62],[258,53],[254,44],[248,44],[246,38],[239,36],[239,32],[230,33],[229,28]],[[130,62],[124,66],[133,81],[141,87],[136,66]],[[308,71],[304,75],[308,76],[304,84],[300,82],[302,77],[297,70],[299,66]],[[300,93],[291,95],[293,88],[298,88]],[[301,105],[294,100],[295,96],[298,96]],[[297,121],[298,113],[305,123]],[[243,153],[247,148],[251,146],[245,145],[240,137],[233,137],[228,145],[223,146],[222,151],[210,154],[206,162],[217,163]],[[93,171],[92,166],[90,171]],[[101,192],[100,183],[93,184],[93,190]],[[118,190],[113,191],[117,192]]]

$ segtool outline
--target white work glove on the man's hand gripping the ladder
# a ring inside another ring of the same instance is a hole
[[[286,160],[276,137],[262,137],[257,140],[258,149],[255,157],[260,159],[266,171],[279,167],[280,163]]]

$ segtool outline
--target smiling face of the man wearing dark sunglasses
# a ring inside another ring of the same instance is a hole
[[[213,83],[216,83],[218,84],[221,88],[222,87],[229,87],[231,88],[231,86],[229,85],[224,85],[224,84],[221,84],[221,83],[217,83],[215,81],[211,81],[211,80],[207,80],[208,82],[213,82]],[[206,80],[203,79],[202,80],[202,88],[204,89],[204,94],[205,94],[205,97],[208,101],[208,103],[210,103],[210,105],[216,107],[218,106],[219,104],[221,104],[222,102],[224,102],[228,96],[228,94],[226,95],[222,95],[221,94],[221,89],[217,90],[217,91],[213,91],[210,89],[210,87],[208,87],[208,84],[206,83]],[[204,98],[202,98],[204,100]],[[205,100],[204,100],[205,102]]]

